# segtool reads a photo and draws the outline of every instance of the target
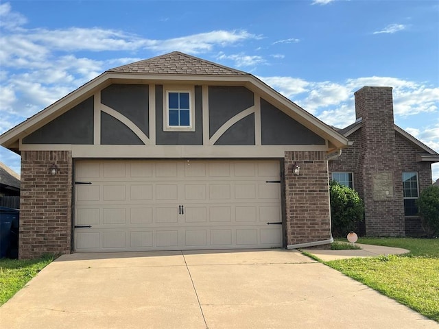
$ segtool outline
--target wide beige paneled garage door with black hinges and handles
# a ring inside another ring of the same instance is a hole
[[[282,246],[278,161],[77,161],[77,252]],[[268,225],[267,223],[273,223]]]

